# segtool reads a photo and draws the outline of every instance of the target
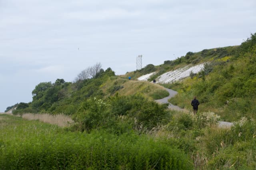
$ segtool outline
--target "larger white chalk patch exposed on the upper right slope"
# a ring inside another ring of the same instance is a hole
[[[182,78],[188,77],[191,71],[193,73],[198,73],[202,70],[202,68],[204,68],[204,63],[192,67],[185,66],[174,71],[166,72],[156,78],[156,80],[158,83],[175,82],[177,80],[181,80]]]

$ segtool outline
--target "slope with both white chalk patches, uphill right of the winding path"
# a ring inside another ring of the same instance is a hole
[[[149,64],[129,72],[138,80],[156,80],[162,86],[178,91],[170,102],[190,109],[194,96],[200,100],[200,111],[214,111],[225,121],[242,117],[256,119],[256,43],[255,34],[240,46],[188,52],[160,66]]]

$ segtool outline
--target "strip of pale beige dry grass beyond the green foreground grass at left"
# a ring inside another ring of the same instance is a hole
[[[60,127],[69,127],[74,121],[66,115],[50,115],[50,114],[32,114],[24,113],[22,118],[28,120],[39,120]]]

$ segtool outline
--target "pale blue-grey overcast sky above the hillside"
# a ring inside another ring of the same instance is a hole
[[[240,45],[255,0],[0,0],[0,112],[40,82],[72,82],[101,63],[116,74],[188,51]]]

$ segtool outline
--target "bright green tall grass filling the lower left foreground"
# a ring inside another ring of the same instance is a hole
[[[0,120],[3,170],[192,169],[183,152],[146,135],[70,132],[39,121],[4,117],[8,120]]]

